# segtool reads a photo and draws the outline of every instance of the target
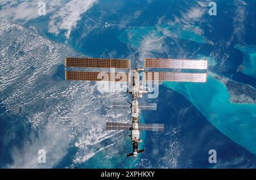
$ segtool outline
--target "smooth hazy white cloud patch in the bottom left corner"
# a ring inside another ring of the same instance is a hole
[[[56,131],[56,129],[58,129]],[[30,136],[29,140],[23,141],[23,148],[11,150],[13,163],[7,168],[52,168],[67,153],[69,134],[63,126],[57,123],[49,123],[38,137]],[[38,163],[38,150],[46,150],[46,164]]]

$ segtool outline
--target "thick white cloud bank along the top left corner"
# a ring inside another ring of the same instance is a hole
[[[49,15],[49,32],[57,35],[61,30],[67,30],[65,36],[68,38],[72,28],[76,26],[81,14],[90,9],[98,0],[71,0],[68,3],[62,0],[43,1],[46,2],[46,15]],[[1,19],[9,19],[16,22],[38,18],[38,2],[34,1],[3,1],[0,3]]]

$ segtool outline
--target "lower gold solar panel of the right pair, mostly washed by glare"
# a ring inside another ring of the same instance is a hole
[[[144,72],[147,81],[206,82],[206,73]]]

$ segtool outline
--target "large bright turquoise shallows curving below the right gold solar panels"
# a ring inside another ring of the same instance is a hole
[[[228,89],[212,75],[207,83],[163,85],[183,94],[214,127],[256,154],[256,104],[230,103]]]

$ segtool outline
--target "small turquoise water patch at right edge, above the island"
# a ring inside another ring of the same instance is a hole
[[[236,44],[234,48],[243,53],[242,73],[256,78],[256,46]]]

